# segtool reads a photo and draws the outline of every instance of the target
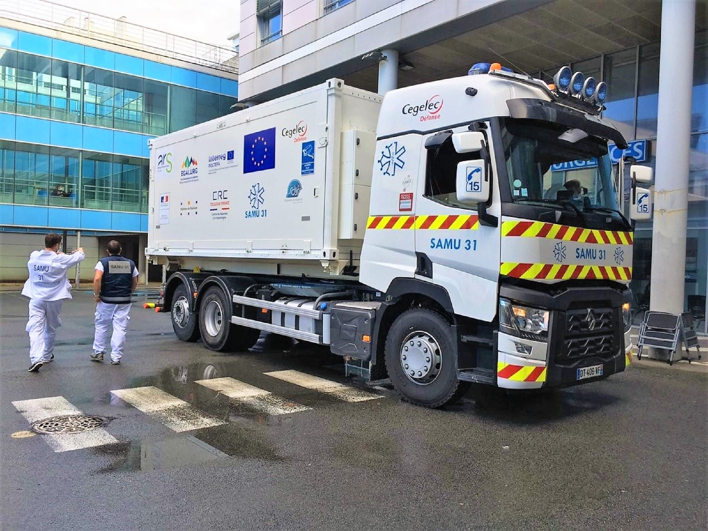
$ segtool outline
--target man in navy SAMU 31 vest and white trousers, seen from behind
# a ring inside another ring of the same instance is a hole
[[[110,336],[110,362],[113,365],[120,365],[130,319],[130,298],[137,286],[135,262],[120,256],[120,251],[118,241],[109,241],[105,249],[108,256],[98,261],[93,275],[93,298],[97,304],[91,360],[103,361],[108,326],[113,325]]]

